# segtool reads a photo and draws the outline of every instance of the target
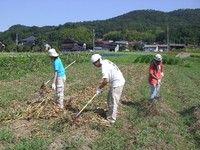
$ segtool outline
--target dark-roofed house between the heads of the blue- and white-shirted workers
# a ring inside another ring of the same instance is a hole
[[[86,50],[86,44],[73,39],[66,39],[61,44],[62,52],[69,51],[84,51]]]

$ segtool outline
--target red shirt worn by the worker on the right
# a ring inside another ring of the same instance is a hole
[[[158,84],[158,80],[155,79],[154,77],[152,77],[152,75],[154,75],[156,78],[158,79],[162,79],[162,70],[163,70],[163,63],[162,61],[160,62],[160,64],[153,60],[150,64],[150,68],[149,68],[149,84]]]

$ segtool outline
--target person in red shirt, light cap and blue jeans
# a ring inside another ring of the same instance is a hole
[[[162,56],[156,54],[149,67],[150,101],[159,98],[161,80],[164,76]]]

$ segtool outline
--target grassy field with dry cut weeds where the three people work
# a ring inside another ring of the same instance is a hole
[[[65,108],[54,102],[52,64],[44,53],[0,53],[0,149],[2,150],[196,150],[200,149],[200,54],[162,53],[161,98],[149,103],[148,69],[154,53],[102,53],[126,84],[115,124],[106,125],[106,94],[91,53],[60,55],[67,66]]]

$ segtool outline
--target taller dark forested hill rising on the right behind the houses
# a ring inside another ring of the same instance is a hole
[[[108,20],[85,22],[86,26],[93,25],[100,35],[105,37],[111,31],[134,31],[137,37],[156,36],[157,40],[166,39],[167,26],[172,42],[188,42],[184,38],[195,38],[200,35],[200,9],[179,9],[172,12],[156,10],[136,10]],[[139,33],[138,33],[139,32]],[[195,33],[194,33],[195,32]],[[102,35],[103,34],[103,35]],[[107,34],[106,34],[107,35]],[[152,37],[152,38],[153,38]],[[108,36],[110,38],[110,36]],[[160,39],[159,39],[160,38]]]

